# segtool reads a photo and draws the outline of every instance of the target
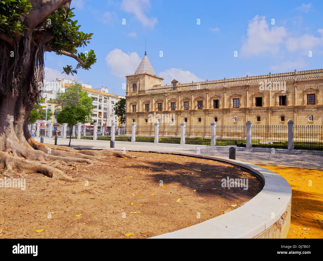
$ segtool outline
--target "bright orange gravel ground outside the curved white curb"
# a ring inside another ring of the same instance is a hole
[[[323,171],[260,165],[284,177],[292,187],[287,238],[323,238]],[[312,181],[312,186],[309,186]]]

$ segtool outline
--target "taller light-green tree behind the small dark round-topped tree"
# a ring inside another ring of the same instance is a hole
[[[80,107],[87,112],[88,120],[91,121],[92,110],[94,108],[92,104],[92,98],[88,96],[87,92],[82,91],[82,85],[79,83],[71,84],[65,92],[58,92],[55,101],[65,107]]]

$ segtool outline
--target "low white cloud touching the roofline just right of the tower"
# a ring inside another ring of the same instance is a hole
[[[164,78],[163,84],[171,84],[173,79],[176,79],[181,83],[204,81],[193,72],[184,71],[181,68],[170,68],[168,70],[164,70],[159,73],[159,77]]]

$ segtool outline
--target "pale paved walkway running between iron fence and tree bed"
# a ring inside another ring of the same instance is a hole
[[[35,138],[36,141],[40,142],[40,138]],[[68,146],[68,139],[58,139],[57,145]],[[45,138],[44,143],[54,144],[53,139]],[[71,140],[72,148],[82,149],[109,149],[110,141],[91,141],[91,140]],[[167,144],[136,144],[132,142],[115,142],[115,149],[131,150],[158,150],[158,151],[185,151],[192,153],[199,153],[201,155],[220,156],[228,157],[229,151],[217,150],[208,146],[192,146],[182,145],[181,147],[167,146]],[[276,165],[276,166],[287,166],[294,168],[307,168],[307,169],[318,169],[323,170],[323,157],[314,155],[302,155],[302,154],[283,154],[283,153],[267,153],[267,152],[247,152],[247,151],[236,151],[236,160],[250,162],[254,164],[264,165]]]

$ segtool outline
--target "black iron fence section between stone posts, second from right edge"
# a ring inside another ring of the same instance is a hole
[[[288,147],[287,125],[254,125],[251,128],[252,147]]]

